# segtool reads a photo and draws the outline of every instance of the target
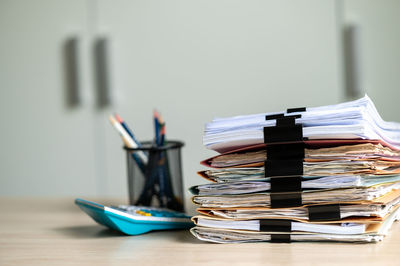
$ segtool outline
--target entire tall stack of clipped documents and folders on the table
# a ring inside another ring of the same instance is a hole
[[[367,96],[214,119],[204,144],[220,154],[190,188],[200,240],[377,242],[400,217],[400,124]]]

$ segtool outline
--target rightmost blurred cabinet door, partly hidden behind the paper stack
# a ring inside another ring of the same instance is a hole
[[[344,26],[359,28],[360,83],[383,119],[400,121],[400,1],[344,0]]]

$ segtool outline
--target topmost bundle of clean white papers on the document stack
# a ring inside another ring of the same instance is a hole
[[[276,120],[266,120],[265,113],[215,118],[206,124],[204,145],[218,152],[263,143],[263,128],[275,126]],[[336,105],[307,108],[296,122],[303,125],[303,136],[308,139],[370,139],[382,140],[400,148],[400,124],[384,121],[368,96]]]

